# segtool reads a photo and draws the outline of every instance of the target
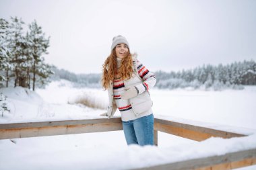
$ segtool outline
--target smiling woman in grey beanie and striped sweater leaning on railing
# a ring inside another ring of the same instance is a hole
[[[148,91],[155,84],[154,74],[130,53],[126,38],[115,36],[103,65],[102,86],[108,89],[109,105],[102,116],[111,118],[119,109],[128,145],[154,144],[154,116]]]

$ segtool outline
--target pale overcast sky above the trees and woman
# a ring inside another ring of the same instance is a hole
[[[119,34],[150,71],[256,60],[254,0],[0,0],[11,16],[36,19],[51,36],[46,62],[73,73],[101,73]]]

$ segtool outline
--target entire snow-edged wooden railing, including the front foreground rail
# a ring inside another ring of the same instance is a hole
[[[123,130],[121,118],[0,124],[0,139],[106,132],[115,130]],[[205,140],[211,136],[218,136],[222,138],[246,136],[245,134],[226,132],[213,128],[205,128],[181,122],[154,118],[154,142],[156,146],[158,145],[158,131],[196,141]],[[256,148],[253,148],[236,153],[227,153],[226,155],[191,159],[177,163],[145,167],[142,169],[235,169],[255,164]]]

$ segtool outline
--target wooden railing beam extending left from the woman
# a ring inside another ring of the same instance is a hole
[[[0,124],[0,139],[123,130],[121,118]]]

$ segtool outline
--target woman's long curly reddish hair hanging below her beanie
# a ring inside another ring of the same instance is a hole
[[[137,55],[137,54],[135,54]],[[114,77],[121,78],[122,80],[130,79],[133,73],[133,54],[130,50],[127,52],[127,56],[122,58],[121,67],[117,68],[117,53],[115,48],[111,51],[110,55],[106,58],[104,65],[102,65],[102,87],[104,90],[108,89],[110,81],[114,80]]]

